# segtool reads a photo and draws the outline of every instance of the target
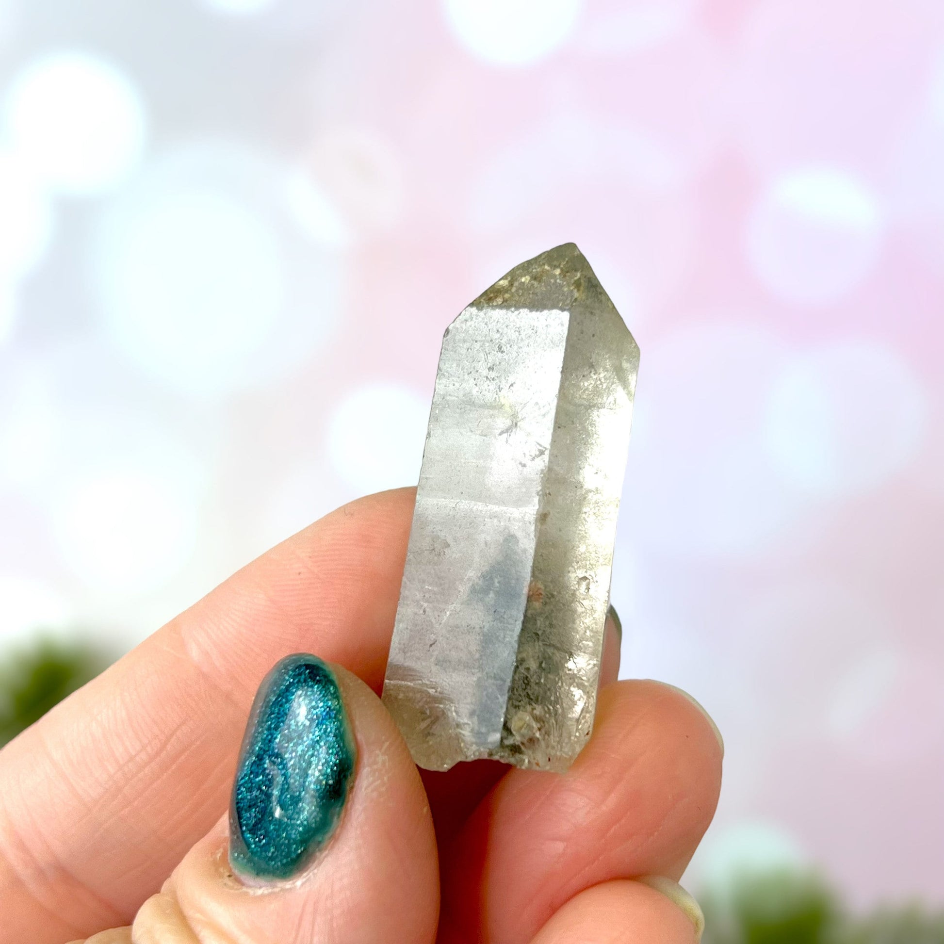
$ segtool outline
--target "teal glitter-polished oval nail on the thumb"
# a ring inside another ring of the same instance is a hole
[[[229,807],[229,863],[287,879],[337,828],[356,749],[341,690],[313,655],[290,655],[262,680],[249,713]]]

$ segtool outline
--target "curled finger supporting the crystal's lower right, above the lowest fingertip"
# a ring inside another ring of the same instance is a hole
[[[444,944],[524,944],[591,885],[678,880],[714,814],[721,757],[713,722],[678,689],[604,687],[570,770],[510,771],[441,850]]]

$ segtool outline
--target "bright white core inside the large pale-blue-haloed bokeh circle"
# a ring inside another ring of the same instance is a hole
[[[183,190],[144,208],[110,264],[114,341],[149,372],[207,390],[238,382],[286,294],[267,222],[212,192]]]

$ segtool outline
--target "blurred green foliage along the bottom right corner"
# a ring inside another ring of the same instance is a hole
[[[944,914],[919,905],[853,917],[818,874],[744,874],[701,897],[704,944],[944,944]]]

